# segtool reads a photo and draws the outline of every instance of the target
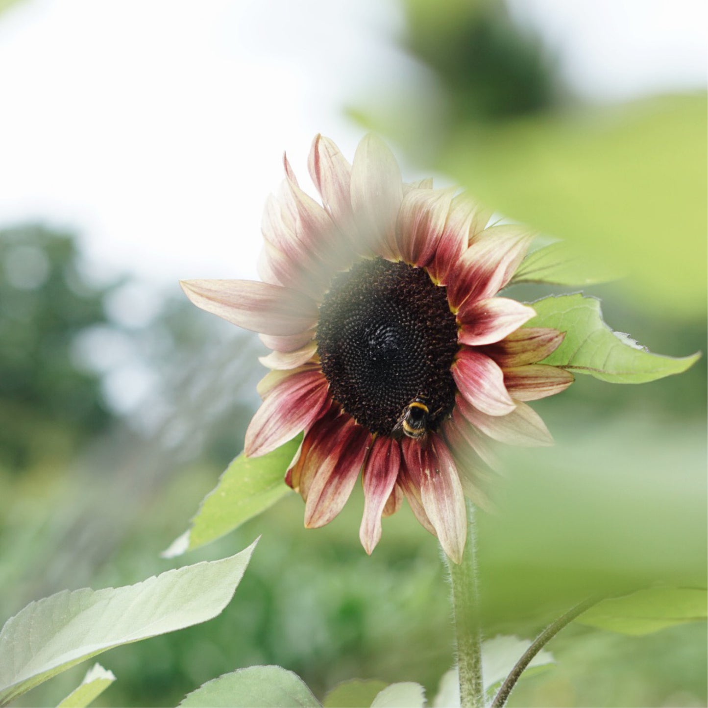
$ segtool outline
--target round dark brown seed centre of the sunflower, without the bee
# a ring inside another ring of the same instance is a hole
[[[445,287],[423,268],[383,258],[334,278],[319,310],[317,353],[334,399],[362,426],[397,434],[418,398],[437,430],[455,405],[457,324]]]

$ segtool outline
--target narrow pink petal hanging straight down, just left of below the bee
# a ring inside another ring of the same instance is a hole
[[[401,447],[397,440],[376,438],[362,472],[364,515],[359,539],[371,555],[381,538],[381,515],[391,497],[401,469]]]

